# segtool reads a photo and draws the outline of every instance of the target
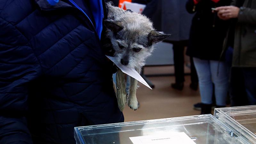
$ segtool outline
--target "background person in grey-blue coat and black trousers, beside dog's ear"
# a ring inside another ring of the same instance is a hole
[[[182,90],[184,86],[184,48],[188,45],[192,14],[186,11],[186,0],[162,0],[162,30],[171,34],[165,42],[173,44],[175,83],[172,88]],[[198,78],[192,57],[190,88],[197,90]]]

